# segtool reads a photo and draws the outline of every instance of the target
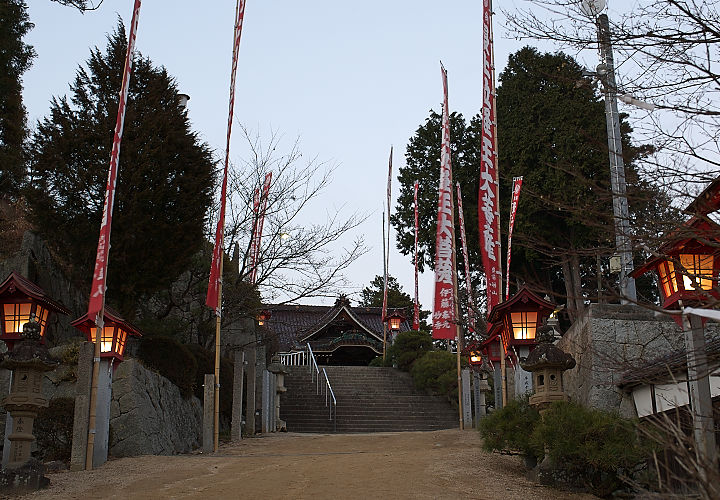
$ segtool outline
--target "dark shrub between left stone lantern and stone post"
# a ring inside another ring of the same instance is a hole
[[[75,415],[73,398],[57,398],[50,406],[38,413],[33,424],[37,439],[38,458],[42,461],[70,461],[72,453],[72,428]]]

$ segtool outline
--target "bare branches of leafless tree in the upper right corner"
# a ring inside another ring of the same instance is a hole
[[[533,0],[504,10],[509,35],[578,53],[596,49],[594,13],[583,0]],[[620,100],[655,106],[635,120],[655,145],[649,175],[681,202],[720,171],[720,15],[713,0],[614,2],[610,37]],[[627,97],[626,97],[627,96]],[[629,109],[629,108],[628,108]]]

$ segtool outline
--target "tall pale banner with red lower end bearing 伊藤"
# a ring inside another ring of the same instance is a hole
[[[447,71],[442,68],[443,114],[440,145],[440,184],[438,186],[438,218],[435,236],[435,301],[433,332],[435,339],[454,339],[455,321],[455,228],[452,205],[452,166],[450,164],[450,117],[448,112]]]

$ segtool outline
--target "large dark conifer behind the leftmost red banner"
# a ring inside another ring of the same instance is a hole
[[[53,99],[32,141],[27,197],[39,231],[89,286],[102,218],[127,42],[119,22],[105,53],[91,51],[72,95]],[[178,106],[175,81],[137,55],[120,152],[108,299],[133,317],[166,289],[203,243],[214,164]]]

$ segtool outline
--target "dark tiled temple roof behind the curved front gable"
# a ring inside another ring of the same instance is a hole
[[[383,323],[381,307],[350,307],[348,302],[338,300],[333,306],[277,305],[268,304],[270,311],[267,328],[278,336],[280,351],[290,351],[299,347],[303,338],[322,329],[345,307],[352,317],[357,319],[358,327],[368,330],[382,339]],[[410,330],[404,321],[400,331]]]

